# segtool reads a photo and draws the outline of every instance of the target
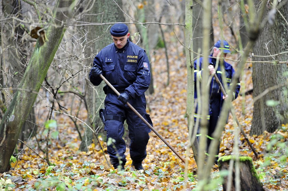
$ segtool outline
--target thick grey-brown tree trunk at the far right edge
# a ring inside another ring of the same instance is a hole
[[[266,14],[271,11],[265,7]],[[272,9],[272,6],[270,7]],[[288,20],[288,2],[286,2],[279,11]],[[273,55],[281,53],[287,49],[288,33],[287,26],[283,25],[285,20],[275,10],[275,20],[273,24],[267,22],[260,33],[258,40],[253,48],[254,55]],[[268,16],[268,15],[267,15]],[[285,31],[285,32],[284,32]],[[264,61],[273,61],[274,63],[264,63]],[[253,57],[253,97],[259,96],[265,90],[272,86],[278,86],[277,89],[269,91],[254,103],[254,113],[250,135],[260,135],[267,130],[273,132],[281,124],[288,123],[288,86],[285,79],[288,78],[287,65],[279,61],[287,61],[287,53],[278,56]],[[269,100],[273,100],[270,101]]]

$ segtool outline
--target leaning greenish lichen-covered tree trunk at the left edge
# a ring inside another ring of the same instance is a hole
[[[54,19],[46,32],[48,41],[42,46],[39,39],[16,93],[0,125],[0,173],[8,171],[9,160],[18,136],[31,110],[47,70],[54,58],[66,28],[63,26],[70,12],[71,1],[59,0],[54,9]]]

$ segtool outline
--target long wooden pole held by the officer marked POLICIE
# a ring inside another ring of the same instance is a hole
[[[120,95],[120,93],[112,86],[112,84],[102,75],[100,74],[100,77],[102,78],[102,80],[105,81],[105,83],[117,94],[117,96]],[[133,108],[133,106],[130,103],[126,103],[128,105],[128,107],[134,111],[134,113],[136,113],[136,115],[138,115],[138,117],[140,117],[145,123],[146,125],[148,125],[148,127],[173,151],[173,153],[175,153],[183,162],[185,162],[185,160],[183,159],[183,157],[181,157],[181,155],[142,117],[142,115],[140,115],[140,113],[138,113],[137,110],[135,110],[135,108]]]

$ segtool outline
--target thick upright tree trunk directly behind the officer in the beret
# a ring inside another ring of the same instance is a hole
[[[122,7],[121,0],[115,0],[115,2],[120,7]],[[90,23],[124,22],[125,18],[124,18],[123,12],[115,4],[115,2],[105,1],[105,0],[97,1],[97,4],[95,3],[93,5],[92,9],[88,12],[88,14],[102,13],[104,11],[103,14],[100,14],[98,16],[85,17],[85,21],[90,22]],[[90,31],[89,33],[87,33],[88,43],[86,46],[91,47],[91,48],[87,49],[85,53],[89,56],[91,55],[91,59],[87,59],[88,62],[86,63],[86,65],[92,67],[94,57],[97,55],[97,53],[102,48],[104,48],[105,46],[113,42],[111,38],[111,34],[110,34],[110,25],[85,26],[85,30],[83,31]],[[90,83],[90,81],[88,81],[87,83],[88,83],[88,89],[87,89],[86,95],[87,95],[87,105],[88,105],[88,113],[89,113],[88,115],[89,118],[87,119],[89,120],[88,124],[92,124],[94,129],[97,128],[98,126],[100,127],[102,126],[99,133],[102,136],[104,136],[104,126],[98,115],[98,112],[99,112],[99,108],[104,108],[104,104],[103,104],[104,102],[102,103],[102,101],[105,99],[106,95],[103,91],[103,87],[106,84],[102,82],[99,86],[93,86]],[[80,144],[79,149],[82,151],[87,151],[87,146],[89,146],[92,143],[93,136],[94,136],[93,132],[91,132],[89,128],[86,128],[84,135],[82,136],[83,140]]]

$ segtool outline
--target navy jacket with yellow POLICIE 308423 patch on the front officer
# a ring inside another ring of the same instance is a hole
[[[103,48],[95,56],[94,65],[102,70],[102,75],[117,91],[126,92],[131,98],[143,95],[150,85],[150,63],[145,50],[129,40],[122,49],[114,43]],[[89,78],[94,86],[102,81],[91,71]]]

